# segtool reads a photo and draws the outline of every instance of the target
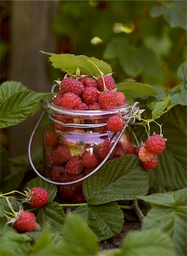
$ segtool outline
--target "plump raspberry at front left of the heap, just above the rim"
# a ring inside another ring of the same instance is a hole
[[[62,98],[62,106],[73,109],[75,106],[82,104],[81,98],[75,93],[65,93]]]

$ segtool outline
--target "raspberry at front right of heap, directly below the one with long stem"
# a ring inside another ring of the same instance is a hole
[[[101,109],[110,109],[116,107],[116,96],[113,92],[104,92],[99,96]]]

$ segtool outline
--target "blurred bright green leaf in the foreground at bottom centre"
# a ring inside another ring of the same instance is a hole
[[[75,214],[67,216],[63,239],[67,255],[95,255],[99,247],[94,232]]]

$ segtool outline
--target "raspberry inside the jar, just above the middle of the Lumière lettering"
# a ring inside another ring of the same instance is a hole
[[[82,160],[80,160],[78,156],[73,156],[66,164],[66,171],[69,174],[76,175],[82,172],[83,167]]]

